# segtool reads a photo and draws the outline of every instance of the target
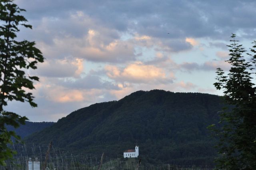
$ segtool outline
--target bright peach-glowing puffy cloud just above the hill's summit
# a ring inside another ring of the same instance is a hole
[[[174,78],[166,76],[163,69],[153,65],[145,65],[142,62],[134,62],[123,69],[107,65],[105,70],[109,78],[120,82],[172,83]]]

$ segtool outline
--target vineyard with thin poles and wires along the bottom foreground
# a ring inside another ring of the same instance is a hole
[[[111,159],[103,155],[72,154],[51,146],[13,145],[17,154],[13,160],[7,161],[7,166],[0,170],[27,170],[28,160],[36,158],[40,161],[41,169],[46,170],[213,170],[206,167],[185,167],[171,164],[148,164],[137,158]],[[50,151],[50,152],[49,152]],[[46,160],[46,153],[48,158]],[[101,161],[102,160],[102,161]]]

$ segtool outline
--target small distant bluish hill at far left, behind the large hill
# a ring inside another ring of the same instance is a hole
[[[26,121],[25,125],[20,125],[19,128],[13,126],[7,126],[8,130],[14,130],[21,138],[24,138],[34,132],[38,132],[44,128],[52,126],[54,122],[29,122]]]

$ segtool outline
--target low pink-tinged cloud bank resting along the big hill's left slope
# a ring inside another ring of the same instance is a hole
[[[107,102],[117,100],[116,96],[108,90],[68,90],[60,86],[41,86],[40,94],[36,95],[35,102],[38,107],[31,108],[28,103],[10,102],[5,108],[8,111],[15,111],[21,116],[27,116],[33,122],[56,122],[58,119],[67,116],[74,110],[84,108],[96,102]],[[22,109],[20,109],[22,108]]]

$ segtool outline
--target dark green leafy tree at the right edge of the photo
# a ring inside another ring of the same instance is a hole
[[[231,110],[224,109],[220,114],[222,128],[214,129],[219,138],[217,148],[220,154],[216,162],[218,168],[255,170],[256,88],[252,83],[252,66],[256,55],[247,61],[244,57],[246,50],[238,44],[235,37],[232,34],[232,43],[228,46],[230,59],[227,62],[231,64],[231,68],[227,75],[218,68],[218,81],[214,84],[218,90],[224,90],[225,102],[233,106]],[[251,51],[255,53],[254,49]]]

